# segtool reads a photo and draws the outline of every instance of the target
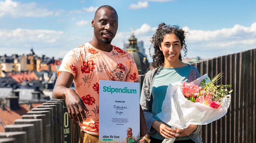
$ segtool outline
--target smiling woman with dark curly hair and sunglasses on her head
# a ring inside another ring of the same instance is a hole
[[[153,62],[141,90],[140,104],[146,119],[151,142],[161,143],[177,136],[175,143],[201,143],[200,125],[172,129],[156,114],[162,111],[167,86],[177,81],[191,82],[200,77],[198,70],[182,62],[181,50],[187,54],[186,32],[176,25],[161,23],[150,41],[154,47]],[[151,54],[150,54],[151,56]]]

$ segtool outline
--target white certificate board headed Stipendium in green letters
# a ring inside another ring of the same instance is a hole
[[[140,138],[140,84],[100,80],[99,143]]]

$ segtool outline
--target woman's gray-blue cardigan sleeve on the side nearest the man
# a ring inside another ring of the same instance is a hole
[[[146,125],[149,133],[154,133],[156,130],[152,127],[152,124],[155,120],[154,114],[152,113],[152,99],[151,99],[151,79],[153,76],[153,72],[149,71],[143,81],[141,96],[140,96],[140,105],[143,110],[143,114],[146,120]]]

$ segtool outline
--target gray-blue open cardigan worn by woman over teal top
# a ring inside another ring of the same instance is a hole
[[[190,71],[189,71],[188,82],[192,82],[197,78],[199,78],[200,74],[196,69],[196,67],[191,65],[189,66],[190,66]],[[142,85],[141,96],[140,96],[140,105],[143,110],[144,117],[146,119],[146,124],[147,124],[149,133],[154,133],[156,131],[154,128],[151,128],[153,122],[156,120],[153,113],[151,112],[152,103],[153,103],[153,99],[151,99],[152,97],[151,90],[152,90],[152,86],[155,79],[155,73],[156,73],[155,69],[150,70],[146,73],[146,76],[144,78],[143,85]],[[201,125],[198,125],[196,131],[188,135],[188,137],[196,143],[202,143],[200,134],[199,134],[200,130],[201,130]]]

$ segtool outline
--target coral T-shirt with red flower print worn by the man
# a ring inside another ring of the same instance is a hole
[[[117,46],[111,52],[101,51],[89,42],[72,49],[62,60],[58,71],[74,75],[75,92],[86,108],[86,120],[81,130],[98,135],[99,80],[136,82],[139,78],[133,57]]]

